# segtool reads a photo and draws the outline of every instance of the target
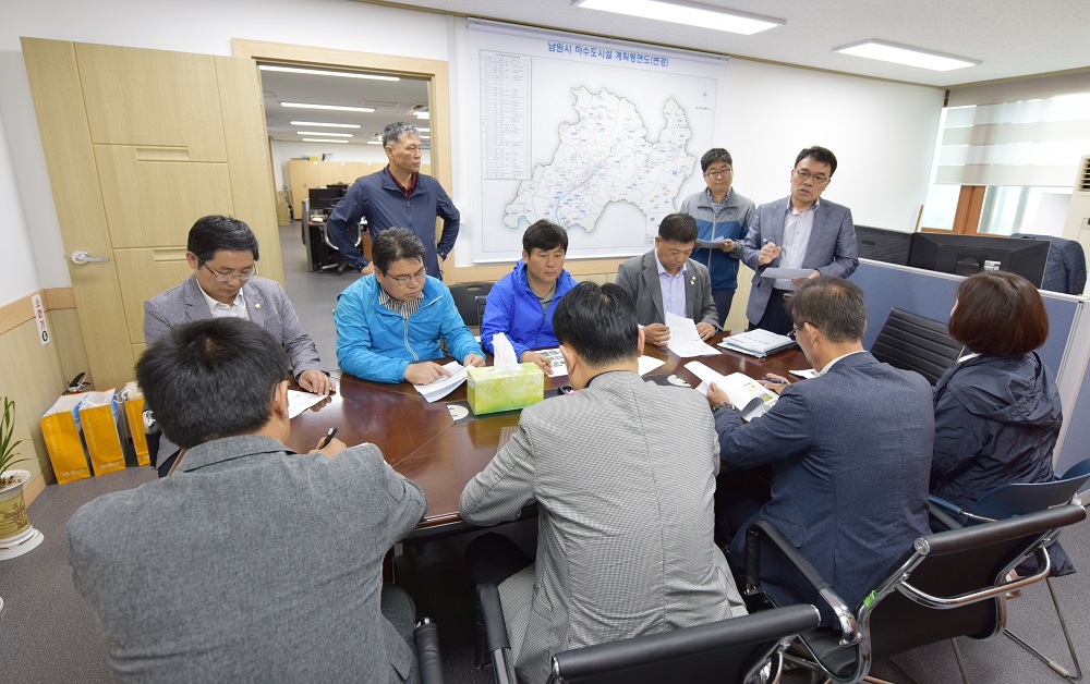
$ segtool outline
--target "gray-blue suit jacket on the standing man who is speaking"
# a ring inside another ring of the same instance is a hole
[[[788,196],[759,206],[753,215],[753,222],[750,223],[750,232],[742,243],[742,261],[753,269],[753,288],[746,306],[746,318],[753,325],[764,316],[772,296],[772,285],[776,282],[761,273],[770,266],[780,265],[779,257],[776,257],[766,266],[759,267],[758,256],[761,254],[761,246],[770,240],[777,245],[784,244],[784,224],[787,222],[790,201]],[[810,231],[810,242],[807,243],[807,255],[802,258],[802,268],[812,268],[822,276],[851,276],[859,266],[859,245],[856,244],[851,209],[820,198],[814,211],[816,215]]]

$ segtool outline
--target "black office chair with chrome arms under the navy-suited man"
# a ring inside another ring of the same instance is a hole
[[[758,521],[747,530],[746,595],[751,600],[762,595],[763,551],[786,557],[838,619],[834,627],[799,635],[807,657],[786,658],[834,682],[859,682],[875,661],[956,636],[983,639],[1002,632],[1007,593],[1047,577],[1045,545],[1057,530],[1086,516],[1081,505],[1067,504],[920,537],[856,607],[844,603],[775,525]],[[1029,557],[1037,560],[1036,572],[1008,578]]]

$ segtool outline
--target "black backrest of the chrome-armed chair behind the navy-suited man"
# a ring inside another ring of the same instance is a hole
[[[1006,620],[1006,593],[1013,588],[1004,586],[1007,573],[1055,530],[1086,516],[1080,505],[1063,505],[917,539],[913,550],[858,610],[861,659],[869,663],[955,636],[996,634]],[[1044,569],[1039,565],[1039,570]],[[1040,581],[1044,575],[1034,577]],[[919,597],[910,598],[912,588],[961,600],[929,607]],[[965,598],[972,594],[977,596]]]

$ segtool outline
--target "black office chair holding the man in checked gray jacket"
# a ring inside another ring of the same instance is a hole
[[[477,587],[485,642],[497,684],[514,684],[507,624],[494,584]],[[788,606],[758,615],[598,644],[557,654],[549,684],[778,682],[779,655],[803,630],[818,625],[813,606]],[[773,665],[772,661],[776,661]],[[762,670],[767,670],[761,679]],[[772,676],[768,676],[772,675]]]

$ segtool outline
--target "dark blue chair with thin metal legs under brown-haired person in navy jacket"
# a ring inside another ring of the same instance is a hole
[[[1087,480],[1090,480],[1090,459],[1076,463],[1074,466],[1068,468],[1066,473],[1064,473],[1062,478],[1051,483],[1016,483],[996,487],[981,497],[969,511],[964,511],[945,499],[932,496],[930,497],[932,517],[947,529],[956,529],[961,526],[961,520],[967,520],[969,525],[979,525],[980,523],[1007,520],[1016,515],[1044,511],[1046,509],[1068,503],[1081,505],[1078,494],[1079,490],[1083,488]],[[936,508],[938,509],[937,511],[935,510]],[[943,512],[952,513],[958,516],[958,518],[949,520],[948,517],[942,515]],[[1067,650],[1070,654],[1071,662],[1075,665],[1075,674],[1071,674],[1067,668],[1056,662],[1053,658],[1045,656],[1037,648],[1027,644],[1021,637],[1013,632],[1004,632],[1004,634],[1006,634],[1010,640],[1025,649],[1031,656],[1049,665],[1049,668],[1059,676],[1071,682],[1078,682],[1082,679],[1082,667],[1079,664],[1078,655],[1075,652],[1075,645],[1071,642],[1071,635],[1067,628],[1067,620],[1064,618],[1064,611],[1059,607],[1059,600],[1056,598],[1055,588],[1052,586],[1052,576],[1055,575],[1054,569],[1056,563],[1052,557],[1055,555],[1055,550],[1057,548],[1058,545],[1055,545],[1051,546],[1049,549],[1053,572],[1050,573],[1049,577],[1045,577],[1045,586],[1049,587],[1049,595],[1052,597],[1052,606],[1056,609],[1056,619],[1059,620],[1059,628],[1063,631],[1064,639],[1067,642]],[[1065,554],[1061,552],[1061,555],[1056,558],[1063,559],[1064,555]]]

